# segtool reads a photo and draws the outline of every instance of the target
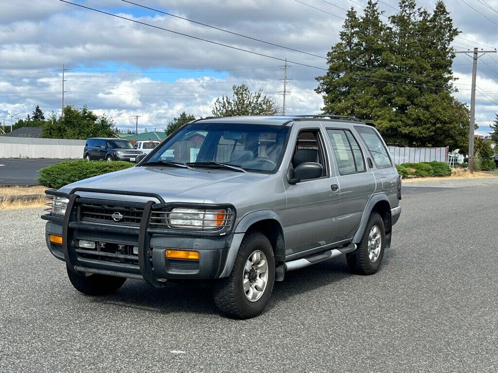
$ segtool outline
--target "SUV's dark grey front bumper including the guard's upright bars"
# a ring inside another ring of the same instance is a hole
[[[183,235],[151,228],[152,206],[165,205],[153,201],[145,204],[140,227],[83,222],[78,218],[78,203],[94,200],[71,193],[66,196],[69,203],[64,217],[42,215],[42,218],[48,220],[45,237],[49,251],[66,262],[71,271],[141,279],[155,287],[163,286],[165,280],[217,279],[225,270],[231,247],[241,241],[239,237],[234,239],[241,234],[232,233],[232,227],[217,236],[206,232]],[[62,236],[63,244],[50,242],[50,234]],[[94,241],[96,248],[82,249],[79,240]],[[196,250],[200,253],[199,260],[167,259],[167,249]]]

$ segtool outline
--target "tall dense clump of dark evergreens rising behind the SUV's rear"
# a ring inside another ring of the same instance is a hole
[[[450,46],[459,32],[442,1],[432,14],[415,0],[398,7],[389,24],[373,0],[363,15],[348,11],[329,70],[317,78],[323,111],[372,120],[388,143],[461,147],[469,110],[452,96]]]

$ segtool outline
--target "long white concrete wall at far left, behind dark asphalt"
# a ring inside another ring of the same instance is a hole
[[[83,158],[86,140],[0,136],[0,158]]]

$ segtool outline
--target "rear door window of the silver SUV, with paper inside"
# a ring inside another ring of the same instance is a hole
[[[341,175],[366,171],[358,141],[348,130],[327,129]]]

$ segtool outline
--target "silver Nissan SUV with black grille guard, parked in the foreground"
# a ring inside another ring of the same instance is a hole
[[[46,242],[79,291],[213,280],[237,318],[259,314],[287,271],[345,255],[374,274],[401,213],[382,138],[342,116],[192,121],[135,167],[47,194]]]

